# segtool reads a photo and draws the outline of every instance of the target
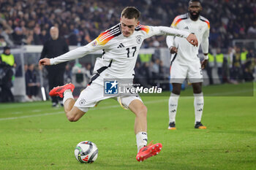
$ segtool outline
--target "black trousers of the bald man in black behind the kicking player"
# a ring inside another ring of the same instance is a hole
[[[49,91],[55,88],[56,86],[64,85],[64,69],[59,69],[56,71],[48,71],[48,82],[49,82]],[[62,99],[59,96],[51,96],[53,103],[59,103]]]

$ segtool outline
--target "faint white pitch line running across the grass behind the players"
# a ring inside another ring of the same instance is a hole
[[[212,95],[209,96],[217,96],[217,95],[221,95],[221,96],[225,96],[225,95],[230,95],[230,94],[236,94],[236,93],[243,93],[243,92],[248,92],[249,90],[243,90],[243,91],[235,91],[232,93],[214,93]],[[254,89],[255,91],[255,89]],[[207,96],[206,96],[207,97]],[[185,96],[182,97],[182,99],[191,99],[194,98],[193,96]],[[156,101],[146,101],[144,102],[144,104],[154,104],[154,103],[162,103],[162,102],[167,102],[169,98],[167,99],[162,99],[162,100],[156,100]],[[108,107],[99,107],[99,108],[91,108],[91,110],[94,109],[111,109],[111,108],[116,108],[116,107],[120,107],[119,105],[112,105],[112,106],[108,106]],[[32,110],[32,112],[39,112],[39,110]],[[15,114],[19,114],[20,112],[15,112]],[[20,116],[20,117],[5,117],[5,118],[0,118],[1,120],[15,120],[15,119],[22,119],[22,118],[27,118],[27,117],[39,117],[39,116],[46,116],[46,115],[59,115],[59,114],[64,114],[64,111],[61,112],[51,112],[51,113],[42,113],[42,114],[38,114],[38,115],[26,115],[26,116]]]

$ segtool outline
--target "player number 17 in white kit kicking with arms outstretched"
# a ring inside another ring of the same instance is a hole
[[[197,45],[197,38],[187,31],[179,31],[164,26],[142,26],[139,18],[140,12],[135,7],[126,7],[120,18],[120,23],[100,34],[97,39],[84,47],[78,47],[56,58],[43,58],[39,65],[55,65],[84,55],[96,50],[102,50],[102,58],[97,58],[94,66],[95,74],[91,82],[84,89],[77,101],[72,96],[75,86],[70,84],[50,90],[50,96],[64,96],[64,110],[69,121],[77,121],[91,107],[99,101],[111,96],[104,96],[104,78],[133,78],[138,50],[144,39],[154,35],[167,34],[180,36],[187,39],[192,45]],[[135,134],[138,146],[137,161],[157,155],[162,149],[162,144],[147,145],[147,108],[139,96],[124,96],[120,103],[135,113]]]

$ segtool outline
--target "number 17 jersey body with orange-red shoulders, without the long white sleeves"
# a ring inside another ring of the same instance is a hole
[[[98,59],[95,64],[96,69],[101,66],[108,66],[112,61],[111,66],[102,72],[101,76],[133,77],[135,63],[143,40],[157,33],[159,34],[159,31],[154,27],[141,25],[135,28],[134,33],[129,37],[121,34],[120,24],[108,29],[93,42],[103,48],[102,58]]]

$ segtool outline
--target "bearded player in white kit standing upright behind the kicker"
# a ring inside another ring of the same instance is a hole
[[[178,98],[181,93],[181,84],[186,78],[192,83],[193,93],[195,96],[195,128],[206,128],[201,123],[203,114],[203,93],[202,69],[205,68],[208,61],[208,36],[210,23],[206,18],[200,16],[202,10],[199,0],[189,1],[189,12],[184,15],[178,15],[171,24],[172,28],[189,31],[195,34],[198,39],[198,46],[189,45],[184,39],[176,36],[167,36],[166,42],[172,54],[170,63],[170,82],[173,85],[172,93],[169,98],[169,126],[168,129],[176,129],[176,112],[178,107]],[[198,49],[201,45],[204,60],[200,63],[198,58]]]

